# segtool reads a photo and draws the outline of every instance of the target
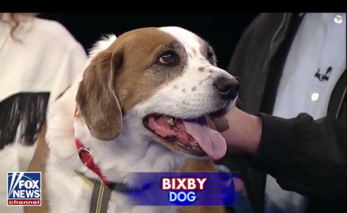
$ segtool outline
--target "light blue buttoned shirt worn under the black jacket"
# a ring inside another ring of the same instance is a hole
[[[318,70],[325,75],[329,67],[328,80],[315,77]],[[325,117],[332,90],[345,69],[346,14],[307,13],[288,53],[273,116],[293,118],[306,112],[314,119]],[[282,190],[273,177],[266,177],[265,213],[304,212],[306,198]]]

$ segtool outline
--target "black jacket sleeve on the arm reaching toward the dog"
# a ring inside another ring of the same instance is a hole
[[[266,114],[251,165],[277,179],[282,189],[329,201],[346,199],[346,122],[301,113],[283,119]]]

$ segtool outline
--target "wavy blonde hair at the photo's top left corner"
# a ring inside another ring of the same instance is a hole
[[[10,36],[11,36],[12,39],[18,41],[18,39],[16,39],[14,37],[15,30],[18,28],[20,23],[26,22],[30,18],[35,17],[37,14],[39,14],[39,13],[38,12],[10,12],[9,13],[10,20],[7,20],[7,19],[4,19],[5,13],[0,13],[0,20],[2,22],[8,23],[10,25],[13,25],[11,27]]]

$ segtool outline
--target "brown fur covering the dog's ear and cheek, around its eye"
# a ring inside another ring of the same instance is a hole
[[[177,66],[157,63],[168,50],[178,52]],[[156,28],[119,36],[91,61],[78,88],[76,101],[91,134],[101,140],[117,138],[122,113],[180,76],[186,60],[187,54],[175,37]]]

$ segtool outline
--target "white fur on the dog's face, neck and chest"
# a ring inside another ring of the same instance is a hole
[[[199,37],[195,34],[177,27],[166,27],[161,30],[175,36],[184,45],[187,53],[196,49],[196,52],[200,54]],[[108,48],[115,40],[116,36],[109,35],[96,43],[90,52],[90,59]],[[112,182],[141,186],[143,183],[138,182],[141,178],[130,176],[129,172],[179,170],[185,161],[185,156],[155,142],[153,135],[143,127],[142,117],[146,113],[156,111],[188,118],[201,116],[203,113],[217,109],[217,106],[212,104],[215,100],[215,95],[212,93],[212,80],[221,75],[232,76],[212,66],[207,60],[200,60],[199,56],[188,59],[185,73],[181,77],[164,85],[150,99],[137,104],[127,112],[123,117],[123,127],[119,137],[112,141],[96,139],[91,135],[82,116],[74,118],[75,96],[82,74],[71,88],[53,103],[48,114],[46,134],[50,148],[46,166],[46,184],[51,213],[87,213],[89,211],[91,189],[75,171],[82,172],[89,178],[97,178],[97,176],[79,159],[74,138],[80,138],[90,149],[94,162],[99,165],[107,180]],[[201,66],[206,66],[206,70],[213,70],[212,73],[198,72],[197,69]],[[201,80],[203,82],[199,84]],[[194,86],[196,89],[192,91]],[[185,93],[182,91],[184,88]],[[74,135],[73,131],[75,131]],[[176,212],[176,208],[128,206],[127,198],[113,191],[108,213],[123,212],[173,213]]]

